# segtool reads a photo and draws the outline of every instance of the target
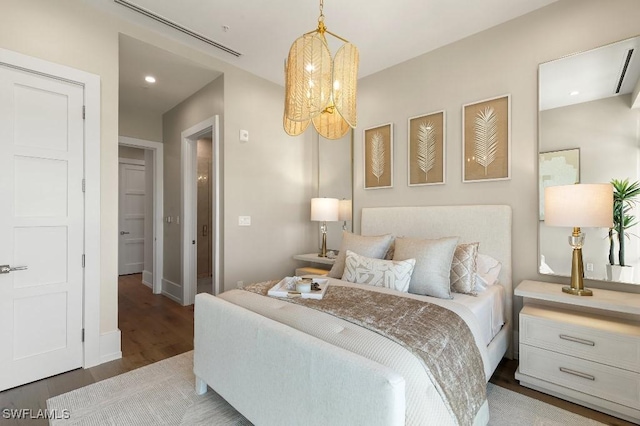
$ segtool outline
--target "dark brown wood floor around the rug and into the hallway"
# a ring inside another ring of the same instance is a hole
[[[28,385],[0,392],[0,425],[47,425],[47,420],[4,419],[3,410],[46,408],[47,399],[100,380],[125,373],[193,349],[193,307],[183,307],[172,300],[151,293],[141,283],[141,275],[118,280],[118,326],[122,332],[122,359],[89,369],[78,369]],[[491,382],[592,418],[608,425],[631,426],[633,423],[584,408],[518,384],[514,373],[518,362],[503,360]]]

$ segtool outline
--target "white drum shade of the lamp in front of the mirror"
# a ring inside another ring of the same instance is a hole
[[[544,222],[549,226],[610,228],[613,226],[613,186],[596,183],[545,188]]]

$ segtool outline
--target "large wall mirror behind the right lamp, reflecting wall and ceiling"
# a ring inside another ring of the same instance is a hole
[[[539,68],[541,198],[552,185],[640,180],[640,37]],[[640,207],[640,206],[639,206]],[[568,228],[546,226],[540,203],[539,271],[570,276]],[[629,215],[640,218],[637,208]],[[613,212],[612,212],[613,217]],[[583,228],[585,278],[640,284],[640,225],[625,238],[626,267],[610,265],[609,230]],[[615,263],[617,235],[613,233]],[[620,275],[622,273],[622,276]]]

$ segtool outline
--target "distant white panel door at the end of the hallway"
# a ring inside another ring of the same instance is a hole
[[[118,274],[138,274],[144,269],[144,166],[120,164]]]

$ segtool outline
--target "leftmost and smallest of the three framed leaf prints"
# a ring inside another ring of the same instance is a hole
[[[393,187],[393,124],[364,130],[364,188]]]

